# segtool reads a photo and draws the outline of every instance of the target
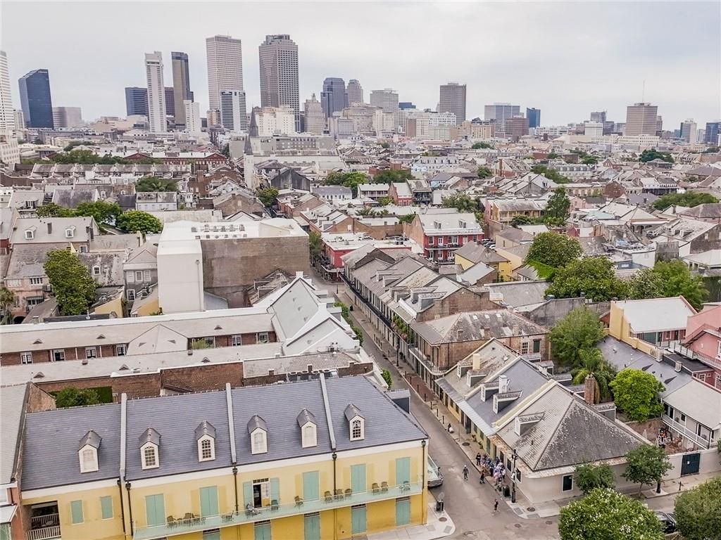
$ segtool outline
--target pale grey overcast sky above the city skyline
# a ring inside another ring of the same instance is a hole
[[[260,104],[258,45],[266,34],[298,44],[301,108],[323,78],[391,87],[435,109],[438,85],[468,85],[467,117],[512,102],[541,109],[542,125],[607,109],[658,105],[665,129],[721,117],[721,4],[667,2],[66,2],[3,1],[1,48],[14,107],[17,79],[50,71],[53,105],[83,117],[125,114],[125,86],[145,86],[143,53],[190,56],[190,86],[208,108],[205,37],[239,37],[250,107]]]

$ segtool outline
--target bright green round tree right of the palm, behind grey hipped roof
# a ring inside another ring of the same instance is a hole
[[[653,374],[626,368],[611,382],[611,390],[616,407],[631,420],[645,422],[663,413],[663,405],[658,399],[658,392],[664,390],[663,384]]]

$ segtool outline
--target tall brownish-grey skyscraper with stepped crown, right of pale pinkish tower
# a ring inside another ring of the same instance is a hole
[[[300,130],[298,94],[298,45],[288,34],[265,36],[258,47],[261,107],[290,107]]]

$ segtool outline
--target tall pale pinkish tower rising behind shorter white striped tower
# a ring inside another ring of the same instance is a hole
[[[243,94],[243,48],[241,41],[229,35],[214,35],[205,40],[205,53],[208,57],[208,102],[210,109],[221,108],[221,92]],[[247,117],[246,109],[242,117]],[[247,127],[247,120],[245,121]],[[226,126],[226,129],[231,129]]]

